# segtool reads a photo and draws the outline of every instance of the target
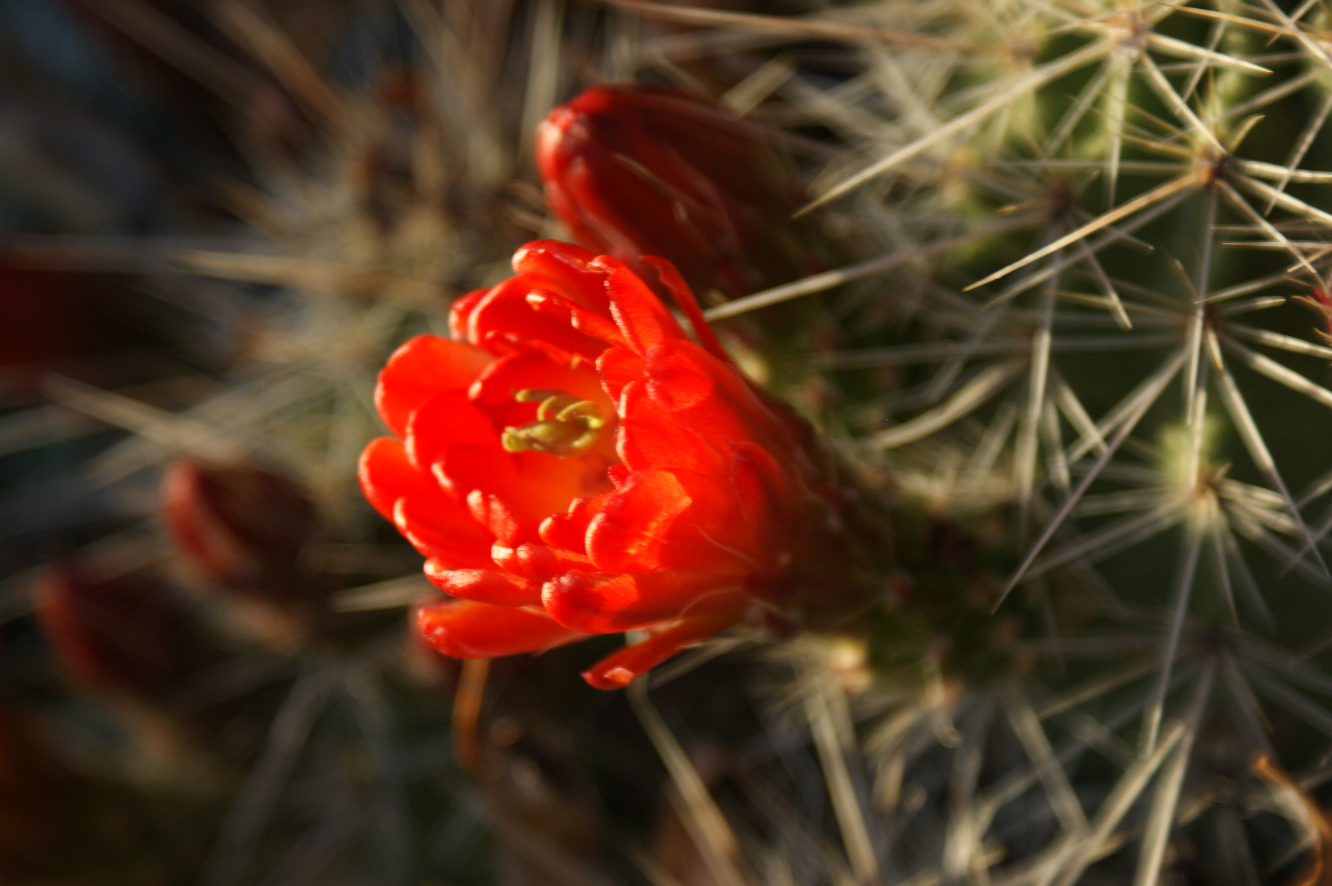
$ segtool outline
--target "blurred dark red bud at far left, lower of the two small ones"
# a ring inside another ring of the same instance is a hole
[[[202,625],[147,579],[100,579],[63,567],[44,575],[35,591],[47,639],[89,688],[164,698],[176,681],[216,660]]]

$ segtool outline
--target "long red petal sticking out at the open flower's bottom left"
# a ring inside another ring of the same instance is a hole
[[[545,652],[586,636],[561,627],[545,613],[472,600],[417,608],[417,628],[432,647],[454,659]]]

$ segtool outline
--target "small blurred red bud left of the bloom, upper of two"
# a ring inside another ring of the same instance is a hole
[[[213,581],[273,603],[309,592],[297,561],[314,506],[285,476],[180,459],[163,478],[163,512],[181,553]]]

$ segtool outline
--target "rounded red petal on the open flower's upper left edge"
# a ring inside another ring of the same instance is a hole
[[[444,391],[465,390],[494,358],[466,342],[417,335],[389,358],[374,388],[374,407],[384,423],[405,436],[408,419]]]

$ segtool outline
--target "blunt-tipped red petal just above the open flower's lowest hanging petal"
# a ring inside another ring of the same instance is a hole
[[[547,581],[542,604],[550,617],[583,633],[635,631],[685,616],[741,612],[743,580],[718,572],[598,575],[567,572]]]

